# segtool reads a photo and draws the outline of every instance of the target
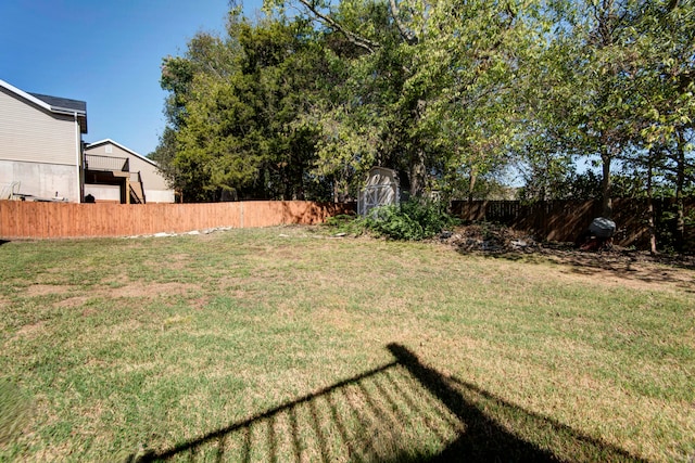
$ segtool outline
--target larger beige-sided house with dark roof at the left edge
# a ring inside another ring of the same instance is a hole
[[[0,80],[0,200],[79,203],[87,103]]]

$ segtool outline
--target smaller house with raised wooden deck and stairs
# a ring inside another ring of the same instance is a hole
[[[167,187],[152,159],[109,139],[85,146],[85,196],[88,195],[96,202],[174,203],[174,190]]]

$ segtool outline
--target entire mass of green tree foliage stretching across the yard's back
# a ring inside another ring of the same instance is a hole
[[[682,195],[693,178],[693,1],[264,7],[164,60],[153,157],[187,201],[355,197],[375,165],[456,198],[511,163],[529,201],[594,197],[594,180],[641,194],[647,170]],[[578,157],[602,175],[580,178]],[[634,181],[612,172],[628,160]]]

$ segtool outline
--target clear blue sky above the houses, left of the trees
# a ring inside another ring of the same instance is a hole
[[[253,17],[262,0],[247,0]],[[142,155],[164,129],[160,65],[200,30],[224,30],[228,0],[2,0],[0,79],[87,102],[86,142]]]

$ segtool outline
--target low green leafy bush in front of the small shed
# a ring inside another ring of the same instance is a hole
[[[440,203],[415,198],[400,206],[371,210],[365,219],[365,227],[391,240],[418,241],[432,237],[456,222],[442,210]]]

